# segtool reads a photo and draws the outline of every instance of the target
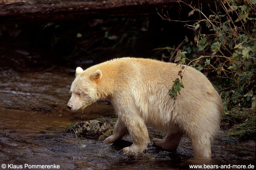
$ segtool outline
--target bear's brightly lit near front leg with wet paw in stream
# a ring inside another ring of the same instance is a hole
[[[124,153],[141,153],[148,148],[150,143],[148,137],[148,129],[145,122],[139,116],[132,115],[125,121],[128,128],[129,135],[133,139],[133,144],[129,147],[123,148]]]

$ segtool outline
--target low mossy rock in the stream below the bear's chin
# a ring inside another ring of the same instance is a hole
[[[111,135],[115,119],[98,119],[76,122],[69,125],[66,129],[67,133],[73,133],[78,138],[95,137],[104,139]],[[102,136],[103,135],[103,136]]]

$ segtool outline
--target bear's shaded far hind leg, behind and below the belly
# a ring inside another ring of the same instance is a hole
[[[176,132],[167,134],[164,139],[154,138],[152,141],[158,147],[162,147],[165,150],[176,150],[179,146],[180,139],[183,136],[183,132]]]

